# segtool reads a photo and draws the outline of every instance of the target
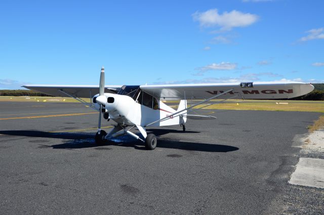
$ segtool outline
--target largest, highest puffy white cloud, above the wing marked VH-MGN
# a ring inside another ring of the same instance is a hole
[[[213,27],[220,26],[221,30],[231,30],[233,27],[245,27],[255,23],[259,17],[255,14],[242,13],[239,11],[225,11],[219,14],[217,9],[206,12],[195,12],[192,14],[193,20],[199,22],[200,26]]]

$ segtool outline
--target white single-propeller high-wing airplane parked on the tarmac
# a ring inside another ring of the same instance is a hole
[[[180,124],[185,131],[185,122],[192,119],[211,119],[214,116],[188,114],[207,107],[212,99],[288,99],[305,95],[314,87],[302,82],[241,82],[241,83],[199,83],[163,85],[107,85],[105,86],[104,68],[101,68],[98,85],[24,85],[22,87],[59,97],[72,97],[99,111],[97,144],[104,144],[110,138],[130,135],[145,143],[148,150],[155,149],[156,137],[146,133],[149,126]],[[99,94],[98,94],[99,91]],[[82,98],[92,99],[91,104]],[[187,100],[203,99],[190,107]],[[180,100],[177,110],[161,100]],[[224,101],[223,100],[223,101]],[[198,105],[201,105],[197,107]],[[101,130],[102,114],[104,119],[112,119],[117,124],[107,134]],[[130,128],[128,128],[130,126]],[[143,139],[131,132],[137,127]]]

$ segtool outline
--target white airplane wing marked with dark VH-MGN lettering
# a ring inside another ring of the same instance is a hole
[[[311,84],[293,81],[141,85],[140,88],[161,100],[208,99],[231,89],[219,98],[237,95],[244,99],[289,99],[314,89]]]

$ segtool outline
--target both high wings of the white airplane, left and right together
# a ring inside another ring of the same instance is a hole
[[[99,93],[99,85],[35,85],[22,87],[57,97],[72,95],[91,98]],[[105,85],[105,93],[117,93],[122,85]],[[310,93],[314,87],[303,82],[241,82],[141,85],[140,89],[163,100],[208,99],[233,89],[220,99],[237,95],[244,99],[289,99]]]

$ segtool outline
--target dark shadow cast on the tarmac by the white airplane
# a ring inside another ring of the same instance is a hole
[[[178,130],[170,129],[150,129],[148,133],[153,132],[156,136],[162,136],[169,133],[182,133]],[[187,131],[186,134],[193,134],[199,132]],[[43,145],[41,147],[52,147],[53,149],[81,149],[81,148],[95,148],[98,147],[94,143],[94,135],[89,133],[50,133],[41,131],[0,131],[0,134],[11,136],[24,136],[24,137],[38,137],[38,138],[55,138],[62,139],[64,143],[56,145]],[[193,136],[194,137],[194,136]],[[123,136],[116,139],[107,141],[102,147],[116,145],[122,147],[133,147],[138,150],[145,150],[144,143],[134,141],[134,138]],[[189,151],[203,151],[203,152],[230,152],[236,151],[239,148],[228,145],[208,144],[208,143],[195,143],[195,142],[182,142],[169,139],[159,138],[157,148],[181,149]]]

